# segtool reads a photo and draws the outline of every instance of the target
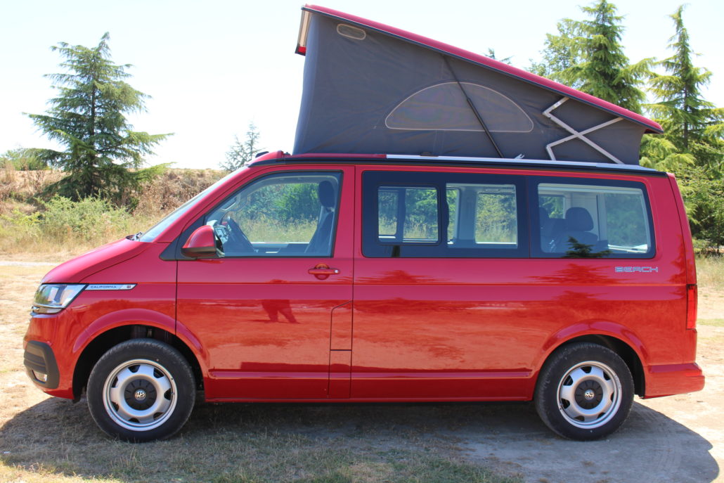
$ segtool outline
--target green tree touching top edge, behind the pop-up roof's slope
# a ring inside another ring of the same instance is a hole
[[[544,61],[534,64],[532,69],[592,96],[641,112],[646,96],[639,85],[648,74],[652,59],[629,64],[620,43],[623,17],[616,15],[615,5],[600,0],[581,10],[592,19],[559,22],[559,35],[547,36]]]

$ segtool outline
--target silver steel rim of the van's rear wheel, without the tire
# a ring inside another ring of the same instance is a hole
[[[606,364],[586,361],[571,367],[558,384],[558,409],[575,427],[606,424],[621,405],[621,382]]]

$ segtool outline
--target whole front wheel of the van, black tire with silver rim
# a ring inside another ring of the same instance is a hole
[[[88,378],[88,409],[112,437],[164,440],[185,424],[195,385],[188,362],[170,345],[133,339],[109,349]]]

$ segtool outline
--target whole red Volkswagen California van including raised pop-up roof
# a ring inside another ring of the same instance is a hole
[[[53,269],[25,366],[126,440],[206,400],[534,400],[557,434],[701,390],[696,272],[639,114],[323,7],[292,155]],[[344,154],[335,154],[344,153]],[[374,154],[388,153],[388,154]]]

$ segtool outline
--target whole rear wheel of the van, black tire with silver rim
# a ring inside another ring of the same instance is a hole
[[[618,429],[631,411],[631,371],[602,345],[565,345],[543,365],[535,403],[540,418],[557,434],[597,440]]]

